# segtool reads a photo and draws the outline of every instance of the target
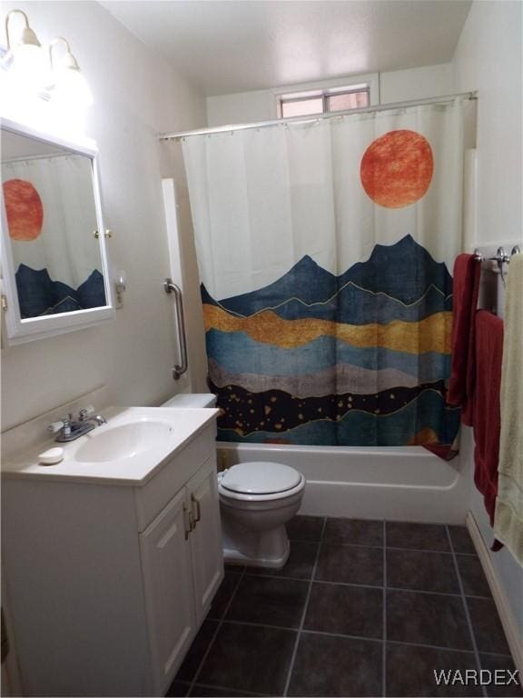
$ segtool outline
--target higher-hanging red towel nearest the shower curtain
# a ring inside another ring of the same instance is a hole
[[[474,394],[474,315],[478,305],[481,264],[473,254],[454,263],[454,292],[449,392],[447,402],[461,407],[461,422],[472,425]]]

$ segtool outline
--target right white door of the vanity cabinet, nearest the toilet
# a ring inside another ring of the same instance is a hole
[[[222,526],[214,457],[193,475],[187,484],[187,494],[192,506],[193,530],[189,540],[196,617],[200,623],[223,578]]]

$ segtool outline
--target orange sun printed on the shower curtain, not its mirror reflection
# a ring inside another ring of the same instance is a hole
[[[361,158],[363,189],[375,204],[402,208],[429,189],[434,159],[429,142],[415,131],[390,131],[372,141]]]

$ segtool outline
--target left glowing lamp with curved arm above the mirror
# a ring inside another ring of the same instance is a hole
[[[25,26],[22,32],[12,41],[9,26],[14,15],[22,15]],[[5,37],[7,39],[7,54],[5,66],[17,81],[25,84],[28,90],[39,90],[44,83],[46,65],[44,50],[35,32],[29,26],[29,19],[22,10],[11,10],[5,17]]]

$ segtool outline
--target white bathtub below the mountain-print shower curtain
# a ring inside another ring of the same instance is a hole
[[[300,514],[464,523],[469,508],[471,474],[459,456],[447,463],[421,446],[216,445],[220,468],[276,461],[299,470],[307,480]]]

